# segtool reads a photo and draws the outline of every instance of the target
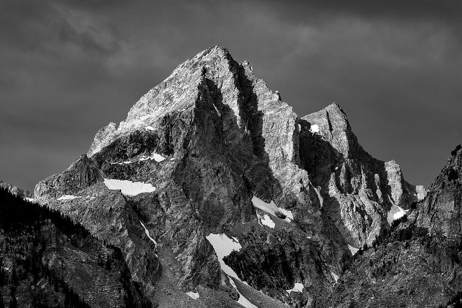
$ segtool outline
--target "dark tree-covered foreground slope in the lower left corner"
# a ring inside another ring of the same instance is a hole
[[[0,307],[150,307],[119,248],[0,187]]]

